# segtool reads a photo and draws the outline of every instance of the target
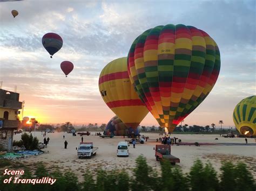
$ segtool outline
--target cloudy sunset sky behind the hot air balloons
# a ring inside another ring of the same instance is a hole
[[[13,18],[11,10],[19,15]],[[192,25],[220,49],[219,78],[184,119],[188,125],[234,126],[235,105],[256,95],[255,1],[0,1],[0,84],[20,94],[24,116],[42,123],[107,123],[114,113],[98,90],[110,61],[127,56],[133,40],[158,25]],[[63,47],[50,58],[42,46],[55,32]],[[68,77],[60,63],[75,68]],[[156,125],[148,114],[140,125]]]

